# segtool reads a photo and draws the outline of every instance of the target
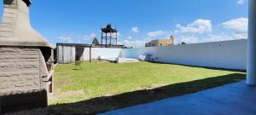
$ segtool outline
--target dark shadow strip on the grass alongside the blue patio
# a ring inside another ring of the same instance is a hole
[[[48,112],[49,114],[96,114],[108,112],[127,106],[136,106],[179,95],[188,95],[205,89],[236,83],[245,78],[246,74],[234,73],[187,83],[175,83],[156,89],[143,89],[121,95],[102,96],[87,101],[53,105],[48,107]]]

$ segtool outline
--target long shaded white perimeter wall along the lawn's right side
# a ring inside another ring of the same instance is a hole
[[[123,49],[120,56],[137,58],[138,55],[153,55],[157,57],[155,61],[164,63],[246,70],[247,40]]]

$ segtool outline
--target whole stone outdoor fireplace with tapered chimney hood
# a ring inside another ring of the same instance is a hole
[[[29,20],[30,0],[3,0],[0,28],[0,114],[47,106],[53,92],[53,49]]]

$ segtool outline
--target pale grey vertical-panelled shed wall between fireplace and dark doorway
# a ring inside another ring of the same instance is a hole
[[[75,46],[57,46],[57,63],[74,63],[76,57]]]

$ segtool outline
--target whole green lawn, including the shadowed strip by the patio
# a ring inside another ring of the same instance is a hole
[[[55,67],[49,111],[98,113],[245,79],[245,72],[150,62],[83,62]]]

